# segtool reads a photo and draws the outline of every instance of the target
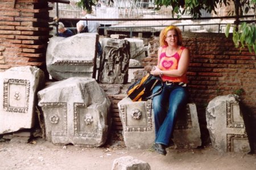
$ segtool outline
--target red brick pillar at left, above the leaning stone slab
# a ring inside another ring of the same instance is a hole
[[[48,2],[0,0],[0,71],[14,66],[46,70]]]

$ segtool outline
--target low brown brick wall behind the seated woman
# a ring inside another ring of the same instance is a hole
[[[201,131],[207,138],[205,130],[205,108],[210,100],[216,96],[236,94],[243,90],[241,103],[245,105],[246,113],[250,117],[253,134],[256,135],[256,59],[255,54],[249,53],[247,48],[234,48],[232,35],[229,39],[222,33],[183,33],[184,46],[191,52],[188,69],[189,89],[191,100],[197,105]],[[159,37],[150,41],[150,56],[144,59],[146,70],[156,65]],[[254,141],[256,137],[254,137]]]

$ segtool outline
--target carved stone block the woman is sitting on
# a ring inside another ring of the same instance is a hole
[[[151,100],[133,102],[125,97],[118,103],[123,125],[123,138],[128,148],[149,148],[155,140],[154,111]],[[195,104],[188,104],[185,115],[178,117],[174,131],[177,147],[195,148],[201,145]]]

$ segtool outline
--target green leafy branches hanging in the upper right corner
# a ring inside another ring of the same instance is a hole
[[[193,18],[200,18],[200,10],[206,10],[207,12],[216,13],[217,5],[229,6],[230,2],[234,2],[234,11],[230,11],[230,14],[235,13],[236,16],[241,16],[243,13],[251,9],[254,10],[255,14],[255,5],[256,0],[155,0],[155,4],[160,6],[171,6],[172,7],[172,16],[177,14],[178,17],[180,14],[185,12],[189,15],[192,15]],[[255,23],[242,23],[238,26],[238,21],[236,25],[228,24],[226,27],[226,37],[229,35],[230,27],[233,27],[233,41],[234,45],[237,48],[244,48],[247,46],[250,52],[253,51],[256,53],[256,27]]]

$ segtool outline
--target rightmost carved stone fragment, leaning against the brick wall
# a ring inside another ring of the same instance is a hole
[[[218,96],[207,107],[207,128],[212,146],[221,152],[249,152],[245,124],[237,95]]]

